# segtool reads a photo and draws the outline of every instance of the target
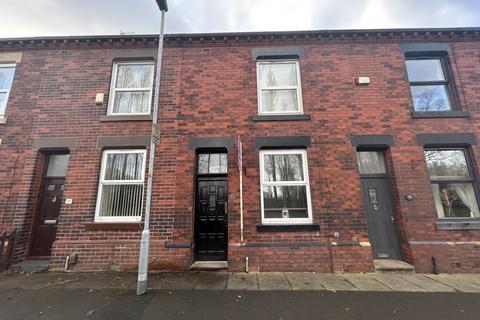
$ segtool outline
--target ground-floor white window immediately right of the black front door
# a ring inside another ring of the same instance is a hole
[[[306,150],[260,151],[262,224],[312,223]]]

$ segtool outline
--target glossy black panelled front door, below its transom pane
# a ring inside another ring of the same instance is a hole
[[[195,259],[227,260],[227,180],[197,178]]]

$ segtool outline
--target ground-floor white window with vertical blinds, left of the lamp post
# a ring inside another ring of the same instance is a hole
[[[144,149],[103,152],[96,222],[142,220],[146,154]]]

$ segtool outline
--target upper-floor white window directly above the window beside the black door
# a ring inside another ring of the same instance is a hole
[[[257,95],[259,114],[302,114],[298,60],[258,61]]]

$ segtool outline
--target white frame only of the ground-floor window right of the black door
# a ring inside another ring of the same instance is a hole
[[[275,154],[301,154],[303,166],[303,181],[264,181],[264,155]],[[308,175],[307,150],[305,149],[289,149],[289,150],[262,150],[260,155],[260,205],[262,212],[262,224],[279,225],[279,224],[311,224],[312,223],[312,201],[310,197],[310,180]],[[279,186],[305,186],[307,194],[307,218],[265,218],[263,187],[279,187]]]

